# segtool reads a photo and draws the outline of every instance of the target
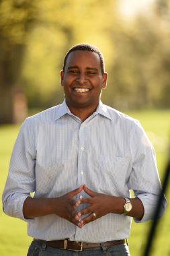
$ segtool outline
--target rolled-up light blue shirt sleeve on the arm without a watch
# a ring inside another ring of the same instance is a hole
[[[36,191],[36,150],[31,143],[34,141],[32,136],[33,129],[26,119],[13,147],[9,173],[2,196],[5,214],[26,222],[31,220],[24,218],[23,204],[26,198],[30,197],[30,193]]]

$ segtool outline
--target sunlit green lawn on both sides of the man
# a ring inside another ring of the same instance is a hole
[[[170,135],[170,110],[150,110],[127,113],[138,119],[144,127],[148,137],[151,139],[157,153],[157,163],[161,180],[167,160],[167,147]],[[7,169],[11,156],[11,150],[19,130],[18,125],[0,126],[0,194],[3,192]],[[170,183],[170,181],[169,181]],[[170,188],[170,184],[169,184]],[[170,199],[170,189],[167,190],[167,199]],[[165,216],[159,221],[159,228],[151,256],[170,255],[170,218],[169,204]],[[5,216],[0,207],[0,255],[1,256],[24,256],[28,251],[28,246],[32,238],[27,236],[26,223],[22,220]],[[132,228],[128,243],[130,245],[131,256],[142,255],[145,245],[148,228],[151,222],[135,224],[132,220]]]

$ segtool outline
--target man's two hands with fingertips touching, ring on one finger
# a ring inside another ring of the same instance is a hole
[[[81,193],[82,190],[84,190],[89,197],[78,199],[76,201],[74,197]],[[72,222],[79,228],[82,228],[85,224],[112,212],[113,198],[114,197],[110,195],[96,193],[86,187],[86,185],[81,185],[78,189],[57,198],[59,207],[56,214],[61,218],[69,220],[69,222]],[[87,203],[88,206],[80,212],[77,212],[77,207],[81,203]],[[87,216],[83,218],[84,215]]]

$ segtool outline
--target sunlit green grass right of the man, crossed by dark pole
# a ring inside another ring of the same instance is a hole
[[[157,154],[157,164],[159,167],[160,178],[161,181],[163,181],[163,174],[165,173],[165,166],[167,164],[167,154],[169,148],[170,110],[150,110],[140,112],[135,111],[127,114],[140,121],[149,139],[153,143]],[[170,177],[168,187],[170,188]],[[166,193],[167,199],[170,199],[169,188],[167,189]],[[159,220],[159,225],[154,239],[151,256],[170,255],[169,210],[170,207],[168,204],[165,215]],[[132,220],[131,234],[130,238],[128,239],[132,256],[142,255],[142,249],[146,244],[150,225],[151,222],[136,224]]]

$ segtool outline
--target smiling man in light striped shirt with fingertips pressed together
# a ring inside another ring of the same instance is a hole
[[[138,121],[101,103],[107,77],[95,46],[73,46],[60,72],[65,101],[19,131],[3,209],[28,222],[28,255],[130,255],[130,216],[153,218],[153,147]]]

